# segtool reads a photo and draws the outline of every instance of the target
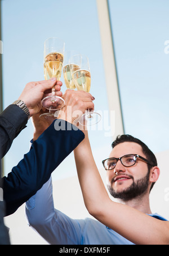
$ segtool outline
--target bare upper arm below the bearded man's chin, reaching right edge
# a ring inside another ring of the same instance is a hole
[[[121,203],[105,200],[96,219],[137,245],[168,245],[169,222]]]

